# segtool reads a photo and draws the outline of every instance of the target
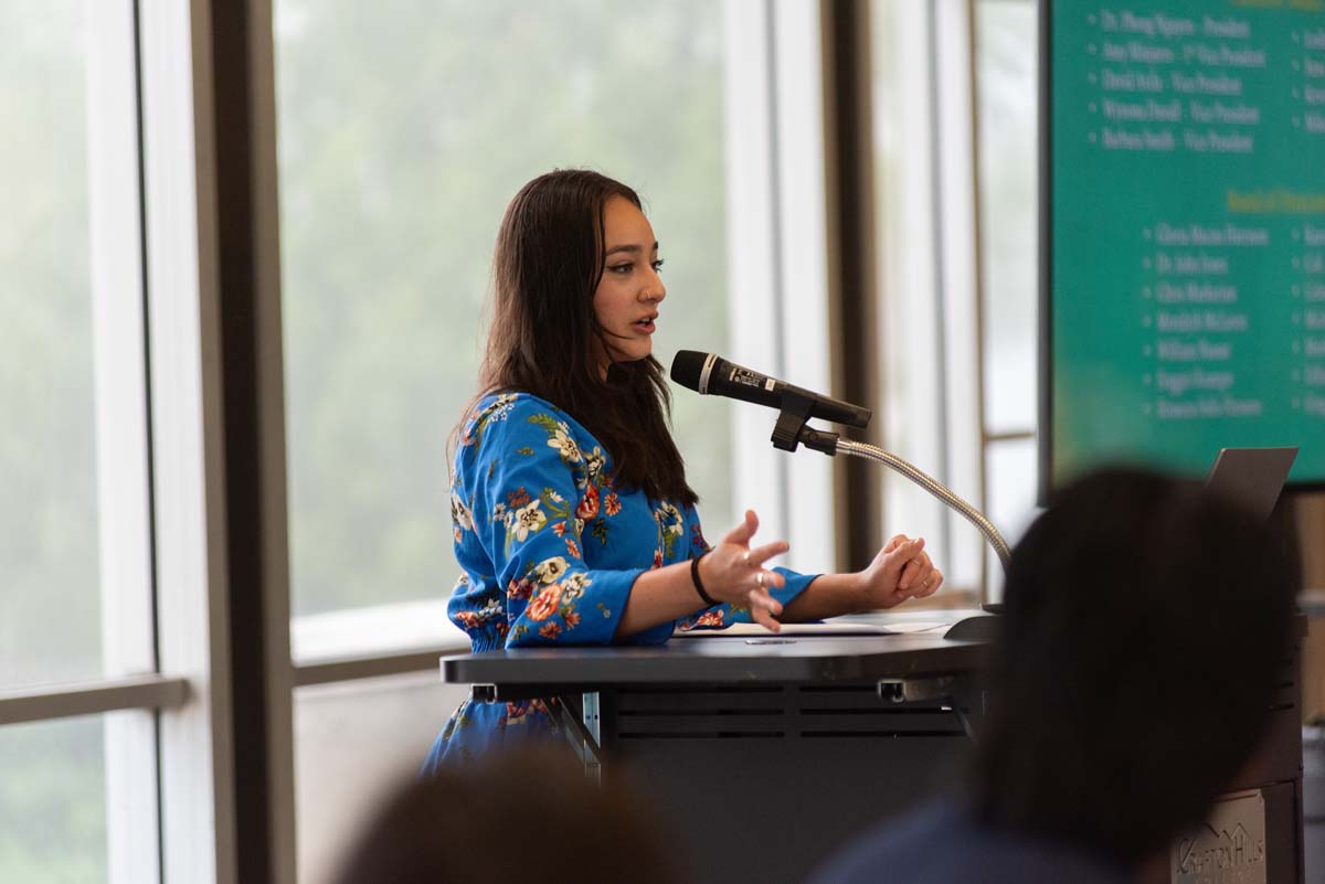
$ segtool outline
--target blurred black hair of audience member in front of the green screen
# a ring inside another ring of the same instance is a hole
[[[1064,490],[1008,566],[977,813],[1155,855],[1253,756],[1298,580],[1277,532],[1195,483],[1109,470]]]

